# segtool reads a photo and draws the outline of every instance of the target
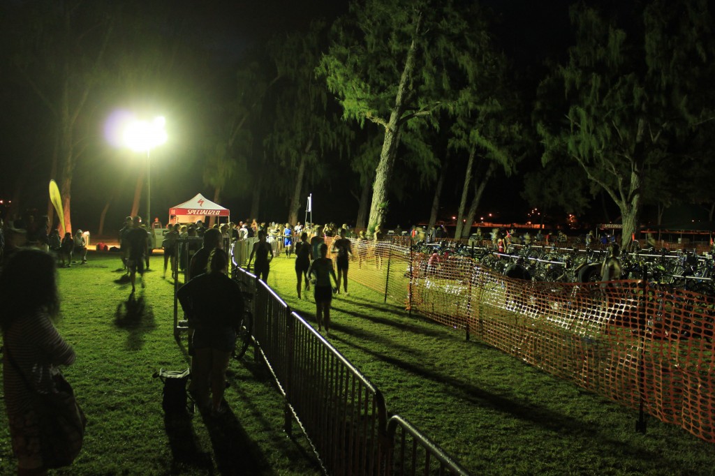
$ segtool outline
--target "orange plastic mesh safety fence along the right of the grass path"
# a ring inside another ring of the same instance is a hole
[[[583,388],[715,442],[715,301],[641,281],[511,279],[469,257],[352,242],[350,278]]]

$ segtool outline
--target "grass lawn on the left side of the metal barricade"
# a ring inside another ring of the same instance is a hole
[[[164,420],[162,383],[152,375],[183,370],[188,359],[172,334],[173,284],[162,279],[162,261],[152,257],[135,302],[118,254],[90,254],[88,264],[58,270],[58,327],[77,352],[64,373],[89,425],[75,464],[56,473],[319,475],[305,438],[282,432],[282,398],[251,350],[250,359],[230,365],[225,417]],[[0,420],[0,475],[10,475],[16,463],[4,410]]]

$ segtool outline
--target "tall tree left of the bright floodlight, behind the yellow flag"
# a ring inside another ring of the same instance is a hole
[[[14,75],[29,86],[53,119],[47,134],[56,138],[50,169],[59,179],[64,228],[71,231],[72,179],[91,130],[82,119],[112,37],[112,5],[82,0],[22,2],[8,19],[4,34],[14,46]]]

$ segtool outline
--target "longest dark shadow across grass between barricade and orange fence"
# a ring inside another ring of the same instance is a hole
[[[664,465],[668,464],[668,461],[664,457],[661,457],[658,452],[649,451],[644,454],[644,451],[641,448],[631,447],[630,445],[627,445],[627,443],[624,444],[624,442],[620,440],[613,440],[608,437],[594,437],[594,433],[586,435],[586,427],[582,421],[567,417],[562,413],[552,412],[551,410],[539,405],[525,405],[518,400],[506,398],[475,385],[471,385],[467,382],[463,382],[462,380],[447,377],[440,372],[435,372],[427,367],[414,365],[413,363],[405,360],[380,354],[372,349],[369,349],[368,347],[355,344],[355,342],[351,342],[348,339],[340,339],[340,337],[332,337],[332,339],[340,340],[340,342],[343,342],[345,345],[358,349],[365,354],[372,355],[377,360],[385,362],[388,365],[398,367],[405,370],[405,372],[432,380],[439,385],[454,388],[460,392],[460,397],[463,400],[466,400],[473,405],[487,407],[505,414],[511,414],[519,420],[532,422],[534,425],[541,426],[546,430],[559,435],[566,433],[572,437],[586,440],[583,442],[584,445],[592,445],[593,442],[591,439],[596,439],[598,440],[599,445],[608,445],[609,447],[612,447],[611,452],[613,452],[613,454],[627,453],[633,457],[649,458],[656,461],[661,460]],[[596,429],[597,427],[593,427],[594,432]]]

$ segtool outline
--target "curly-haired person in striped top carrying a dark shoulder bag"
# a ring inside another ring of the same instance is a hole
[[[21,249],[0,274],[3,386],[18,474],[41,475],[71,465],[82,450],[87,419],[59,365],[74,350],[59,335],[54,258]]]

